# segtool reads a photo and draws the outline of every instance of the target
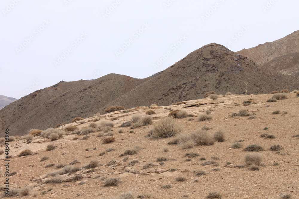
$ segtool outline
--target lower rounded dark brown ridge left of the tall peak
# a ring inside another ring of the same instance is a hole
[[[30,128],[46,129],[69,123],[74,117],[90,117],[99,107],[142,83],[125,75],[109,74],[92,81],[60,82],[38,90],[0,110],[0,124],[24,135]]]

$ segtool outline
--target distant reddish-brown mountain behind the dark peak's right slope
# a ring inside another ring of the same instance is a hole
[[[237,53],[268,69],[299,76],[299,30],[276,41],[243,49]]]

